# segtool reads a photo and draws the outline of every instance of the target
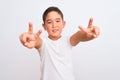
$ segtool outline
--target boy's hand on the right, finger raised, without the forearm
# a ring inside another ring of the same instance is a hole
[[[87,28],[83,28],[82,26],[79,26],[80,33],[83,36],[83,41],[92,40],[99,36],[100,29],[92,24],[93,24],[93,18],[90,18]]]

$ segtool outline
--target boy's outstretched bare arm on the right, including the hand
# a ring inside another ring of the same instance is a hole
[[[92,25],[93,19],[90,18],[87,28],[79,26],[79,31],[70,37],[72,46],[76,46],[79,42],[85,42],[97,38],[100,34],[100,29]]]

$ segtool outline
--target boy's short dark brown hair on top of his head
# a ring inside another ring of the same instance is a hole
[[[49,12],[51,12],[51,11],[57,12],[58,14],[60,14],[61,18],[64,19],[64,18],[63,18],[63,13],[62,13],[62,11],[61,11],[58,7],[51,6],[51,7],[48,7],[48,8],[45,10],[45,12],[43,13],[43,22],[45,22],[45,19],[46,19],[47,14],[48,14]]]

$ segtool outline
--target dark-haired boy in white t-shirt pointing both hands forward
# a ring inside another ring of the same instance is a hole
[[[33,25],[29,23],[29,31],[20,35],[21,43],[27,48],[36,48],[41,59],[40,80],[75,80],[72,70],[71,48],[80,42],[92,40],[99,36],[100,30],[92,25],[90,18],[88,27],[79,26],[79,31],[70,37],[61,36],[65,27],[63,13],[57,7],[49,7],[43,13],[43,28],[48,37],[39,37],[41,31],[33,33]]]

